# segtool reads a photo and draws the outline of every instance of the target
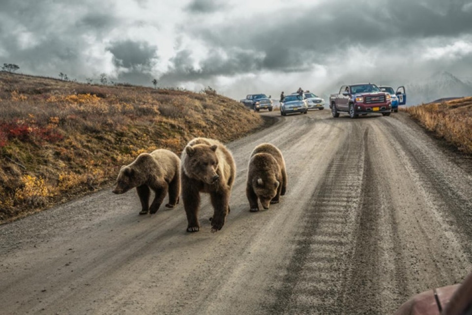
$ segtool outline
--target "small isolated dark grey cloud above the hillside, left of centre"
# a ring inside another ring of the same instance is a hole
[[[157,48],[144,41],[113,42],[108,48],[117,67],[150,69],[157,58]]]

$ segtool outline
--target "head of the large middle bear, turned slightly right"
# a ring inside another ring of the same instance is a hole
[[[218,182],[218,156],[216,144],[209,146],[197,144],[185,147],[187,158],[184,161],[185,173],[194,179],[200,180],[208,185]]]

